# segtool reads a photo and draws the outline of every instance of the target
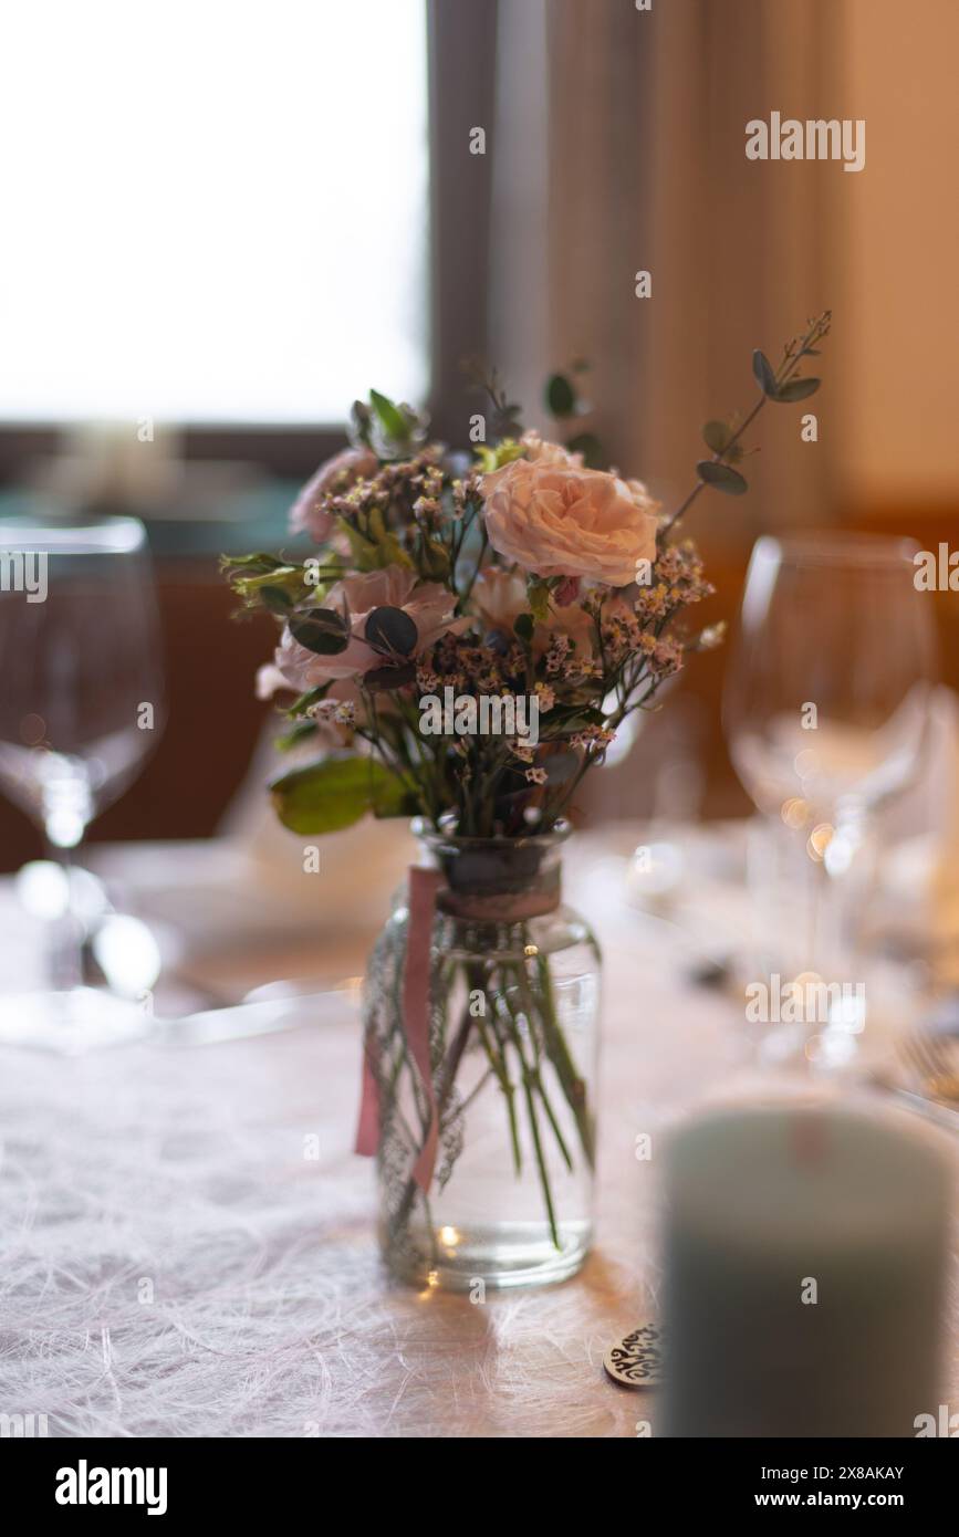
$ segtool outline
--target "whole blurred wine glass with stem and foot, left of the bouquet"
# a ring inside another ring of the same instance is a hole
[[[163,725],[158,616],[137,518],[0,520],[0,787],[61,868],[45,993],[0,999],[0,1042],[77,1051],[140,1033],[148,1013],[83,987],[72,870],[89,822],[128,788]],[[55,905],[55,904],[54,904]]]

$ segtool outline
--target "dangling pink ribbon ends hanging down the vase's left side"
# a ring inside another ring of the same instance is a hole
[[[438,870],[426,870],[421,865],[410,865],[409,870],[409,928],[406,936],[406,964],[403,968],[403,1031],[409,1045],[416,1071],[423,1081],[429,1105],[429,1125],[423,1147],[413,1164],[413,1179],[421,1190],[427,1191],[436,1164],[436,1148],[440,1144],[440,1117],[436,1114],[436,1096],[433,1091],[433,1073],[430,1065],[429,1028],[430,1028],[430,944],[433,938],[433,916],[436,911],[436,891],[443,885]],[[370,1157],[380,1145],[380,1093],[377,1077],[367,1051],[363,1054],[363,1097],[360,1104],[360,1125],[357,1128],[357,1153]]]

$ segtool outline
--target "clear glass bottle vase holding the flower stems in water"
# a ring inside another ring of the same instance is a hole
[[[596,941],[559,895],[569,827],[521,839],[416,832],[436,870],[430,1084],[404,1019],[406,896],[364,990],[383,1254],[406,1282],[476,1297],[562,1280],[592,1242],[599,1022]]]

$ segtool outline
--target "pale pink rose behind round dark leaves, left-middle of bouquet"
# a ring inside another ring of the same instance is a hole
[[[449,630],[460,633],[469,619],[455,619],[456,599],[440,583],[421,583],[404,566],[387,566],[363,576],[344,576],[330,587],[323,607],[335,609],[349,621],[350,639],[335,656],[318,656],[294,639],[284,627],[274,661],[286,681],[304,693],[329,678],[361,678],[389,659],[366,639],[366,621],[373,609],[403,609],[416,626],[416,642],[410,656],[418,656]]]

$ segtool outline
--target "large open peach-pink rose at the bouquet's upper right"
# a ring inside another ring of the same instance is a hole
[[[656,512],[641,481],[604,470],[513,460],[483,476],[493,549],[536,576],[586,576],[626,587],[656,558]]]

